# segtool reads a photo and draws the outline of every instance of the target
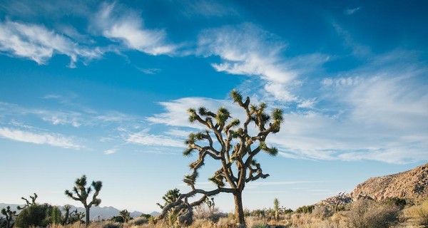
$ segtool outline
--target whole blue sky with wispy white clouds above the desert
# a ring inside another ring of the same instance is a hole
[[[0,1],[0,202],[160,211],[190,191],[188,108],[280,108],[244,207],[295,209],[428,161],[427,1]],[[210,160],[198,186],[212,190]],[[223,212],[232,195],[215,197]]]

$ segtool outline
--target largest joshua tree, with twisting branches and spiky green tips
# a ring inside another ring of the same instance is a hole
[[[203,132],[190,133],[188,140],[185,141],[188,148],[183,155],[198,152],[198,160],[189,165],[193,172],[185,175],[183,180],[192,188],[192,191],[180,195],[175,202],[165,205],[160,219],[172,208],[185,208],[188,213],[182,214],[178,219],[180,222],[187,222],[185,219],[192,214],[193,206],[205,202],[206,197],[227,192],[235,199],[235,222],[245,227],[242,193],[246,183],[269,176],[263,173],[255,156],[262,151],[277,155],[277,149],[268,147],[265,141],[267,135],[280,131],[282,111],[275,109],[271,115],[267,115],[265,103],[250,105],[250,98],[243,100],[243,96],[237,90],[232,90],[230,95],[234,103],[238,103],[245,111],[246,117],[242,124],[239,119],[232,118],[229,110],[223,107],[219,108],[217,113],[203,107],[198,110],[193,108],[188,110],[190,123],[199,123],[206,128]],[[253,135],[250,135],[252,133]],[[195,187],[198,171],[203,167],[207,156],[217,160],[220,165],[220,169],[209,179],[217,186],[210,191]],[[188,203],[188,198],[196,194],[202,197],[193,203]]]

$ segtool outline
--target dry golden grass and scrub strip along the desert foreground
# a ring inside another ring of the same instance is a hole
[[[245,217],[248,228],[340,228],[340,227],[392,227],[399,209],[389,204],[354,204],[347,211],[333,213],[326,208],[315,208],[307,214],[285,214],[279,220],[261,219],[259,217]],[[394,216],[389,216],[394,214]],[[356,221],[355,219],[360,219]],[[382,220],[383,219],[383,220]],[[428,227],[428,200],[422,204],[407,207],[400,216],[399,224],[395,228],[422,228]],[[361,226],[359,225],[361,224]],[[153,224],[148,219],[136,218],[126,224],[114,222],[93,222],[89,228],[181,228],[179,225],[170,225],[160,221]],[[233,228],[233,217],[221,217],[217,222],[209,219],[196,219],[189,228]],[[51,228],[86,228],[85,224],[70,224],[66,227],[53,225]]]

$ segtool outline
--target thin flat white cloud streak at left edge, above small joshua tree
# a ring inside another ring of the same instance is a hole
[[[51,145],[55,147],[81,149],[81,145],[73,142],[71,138],[51,133],[34,133],[12,128],[0,128],[0,137],[19,142],[30,142],[41,145]]]

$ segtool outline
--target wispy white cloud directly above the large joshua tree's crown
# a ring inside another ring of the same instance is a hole
[[[220,63],[212,63],[216,71],[255,78],[256,83],[262,84],[260,94],[263,96],[267,94],[283,102],[302,103],[306,99],[295,93],[300,87],[296,81],[319,69],[330,57],[312,53],[285,58],[286,47],[287,43],[280,37],[247,23],[201,32],[197,53],[219,56]]]

